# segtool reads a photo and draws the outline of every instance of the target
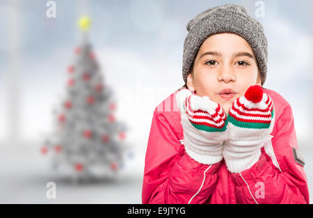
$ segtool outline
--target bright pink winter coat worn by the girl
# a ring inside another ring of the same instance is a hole
[[[181,116],[172,93],[154,110],[145,155],[143,203],[309,203],[290,104],[264,89],[274,103],[271,143],[250,169],[227,171],[224,159],[200,164],[184,150]]]

